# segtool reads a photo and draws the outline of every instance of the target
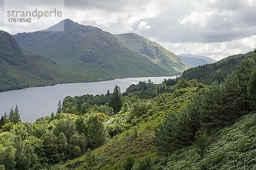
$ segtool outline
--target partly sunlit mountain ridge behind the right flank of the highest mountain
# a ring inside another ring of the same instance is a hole
[[[154,63],[167,70],[169,73],[183,72],[191,67],[187,62],[184,62],[180,57],[166,50],[156,42],[150,41],[145,37],[134,33],[117,34],[115,35],[124,45],[134,51],[148,56]]]

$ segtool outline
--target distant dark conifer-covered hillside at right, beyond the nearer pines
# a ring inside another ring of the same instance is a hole
[[[242,59],[250,57],[251,55],[254,55],[253,51],[246,54],[229,56],[212,64],[190,68],[184,71],[180,78],[198,79],[199,82],[207,85],[210,85],[215,80],[222,82],[228,74],[239,68]]]

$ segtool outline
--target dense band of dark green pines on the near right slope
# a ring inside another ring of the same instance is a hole
[[[212,134],[237,118],[255,110],[256,69],[254,62],[245,59],[238,71],[230,74],[221,84],[201,88],[187,108],[179,114],[170,113],[155,130],[157,153],[162,156],[187,147],[195,141],[197,131],[206,129]],[[182,83],[180,80],[178,84]],[[185,83],[182,87],[186,88]],[[200,132],[200,131],[199,131]],[[201,143],[206,144],[206,141]],[[201,150],[202,156],[205,150]]]

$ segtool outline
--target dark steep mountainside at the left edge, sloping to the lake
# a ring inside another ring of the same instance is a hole
[[[0,72],[0,92],[60,82],[91,82],[99,79],[67,71],[48,57],[22,51],[15,39],[4,31],[0,31]]]

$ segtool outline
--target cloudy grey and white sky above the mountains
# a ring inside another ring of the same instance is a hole
[[[8,10],[52,10],[62,17],[8,23]],[[256,0],[0,0],[0,30],[46,29],[66,18],[112,34],[134,32],[174,54],[220,60],[256,47]]]

